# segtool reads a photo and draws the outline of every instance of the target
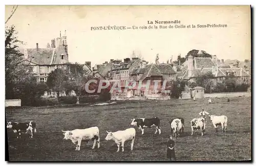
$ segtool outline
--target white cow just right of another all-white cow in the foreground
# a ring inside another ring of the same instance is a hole
[[[116,132],[108,132],[108,135],[106,135],[105,140],[114,140],[115,143],[117,144],[117,152],[119,152],[119,147],[121,144],[122,147],[122,152],[124,151],[124,142],[125,141],[130,141],[131,142],[131,150],[133,150],[133,144],[135,140],[135,135],[136,135],[136,130],[134,128],[128,128],[126,130],[119,130]]]

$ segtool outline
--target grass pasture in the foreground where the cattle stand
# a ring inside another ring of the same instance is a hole
[[[37,132],[32,139],[28,135],[17,141],[8,131],[10,161],[163,161],[166,159],[166,141],[170,134],[168,120],[183,117],[184,134],[176,142],[177,160],[250,160],[251,159],[251,99],[225,98],[168,100],[168,101],[125,101],[109,106],[74,107],[32,107],[7,109],[7,121],[29,121],[37,124]],[[202,108],[212,115],[228,117],[228,131],[214,132],[207,118],[204,136],[191,136],[189,122],[199,117]],[[132,118],[159,117],[162,133],[154,134],[155,128],[145,129],[144,135],[136,129],[134,150],[130,142],[124,144],[124,152],[116,152],[114,141],[104,141],[105,130],[117,131],[131,127]],[[61,129],[72,130],[98,126],[101,147],[92,150],[92,141],[82,142],[81,150],[64,141]]]

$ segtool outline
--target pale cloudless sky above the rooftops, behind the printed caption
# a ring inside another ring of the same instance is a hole
[[[6,19],[13,6],[6,6]],[[6,20],[5,19],[5,20]],[[227,24],[217,28],[159,29],[148,21],[179,20],[179,25]],[[192,49],[218,59],[244,61],[251,57],[249,6],[18,6],[6,26],[15,25],[24,48],[45,48],[67,31],[69,61],[92,65],[110,59],[131,58],[133,50],[144,60],[166,62]],[[149,26],[158,29],[91,31],[95,26]]]

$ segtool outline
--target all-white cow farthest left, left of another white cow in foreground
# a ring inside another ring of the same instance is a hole
[[[86,129],[74,129],[74,130],[67,130],[63,131],[63,135],[65,137],[63,140],[71,140],[73,144],[76,145],[76,150],[80,150],[81,141],[89,142],[90,140],[93,141],[93,147],[94,149],[96,143],[98,145],[98,148],[100,147],[100,139],[99,139],[99,128],[97,126],[86,128]],[[77,143],[77,144],[76,144]]]

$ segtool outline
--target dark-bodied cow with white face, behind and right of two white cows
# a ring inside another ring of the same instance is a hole
[[[150,118],[150,119],[146,119],[146,118],[139,118],[139,119],[132,119],[132,123],[131,125],[134,126],[138,126],[139,129],[142,131],[142,135],[144,134],[144,128],[151,128],[153,126],[156,126],[156,132],[157,130],[159,132],[159,134],[161,134],[161,128],[160,128],[160,119],[155,117],[155,118]]]

